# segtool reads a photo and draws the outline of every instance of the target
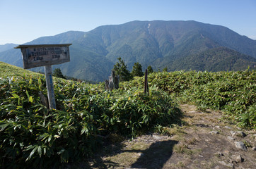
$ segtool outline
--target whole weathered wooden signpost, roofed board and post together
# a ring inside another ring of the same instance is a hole
[[[15,49],[21,49],[24,69],[45,66],[45,79],[50,108],[56,109],[52,81],[52,65],[70,61],[70,45],[71,44],[34,44],[15,47]]]

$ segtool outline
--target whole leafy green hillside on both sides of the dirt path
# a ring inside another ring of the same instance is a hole
[[[182,125],[179,102],[221,110],[231,123],[255,129],[255,70],[152,73],[149,94],[143,77],[113,91],[54,78],[57,110],[42,104],[44,75],[6,63],[0,70],[0,168],[58,168],[90,157],[111,134],[165,133]]]

